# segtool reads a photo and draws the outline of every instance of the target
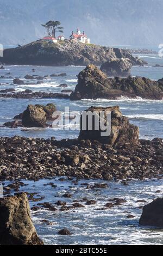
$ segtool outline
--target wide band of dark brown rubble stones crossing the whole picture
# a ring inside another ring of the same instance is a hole
[[[4,137],[0,138],[0,180],[54,176],[105,180],[159,178],[162,152],[163,142],[159,138],[126,143],[115,149],[99,141]]]

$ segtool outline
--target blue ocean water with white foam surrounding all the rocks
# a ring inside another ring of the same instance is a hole
[[[157,54],[138,54],[145,59],[148,65],[139,67],[133,66],[132,76],[145,76],[152,80],[158,80],[163,77],[163,68],[153,67],[155,64],[163,65],[163,59]],[[14,88],[17,92],[24,89],[32,89],[33,92],[61,92],[63,88],[58,88],[59,84],[66,83],[66,89],[74,90],[77,84],[77,75],[82,71],[84,66],[5,66],[5,70],[0,70],[0,76],[8,72],[12,77],[21,77],[33,75],[32,69],[35,69],[35,75],[51,75],[52,73],[60,74],[66,72],[66,77],[53,77],[47,79],[45,83],[39,85],[21,85],[11,84],[12,78],[1,79],[1,89]],[[8,76],[8,75],[5,75]],[[64,111],[65,107],[70,107],[71,111],[83,111],[90,106],[116,106],[119,105],[123,115],[129,117],[130,123],[140,127],[140,138],[153,139],[155,137],[163,138],[163,100],[129,100],[121,99],[116,101],[110,100],[82,100],[70,101],[62,99],[0,99],[0,125],[23,112],[27,106],[32,103],[47,104],[53,102],[59,111]],[[24,137],[43,137],[50,138],[55,136],[56,139],[77,138],[79,131],[56,131],[51,128],[47,129],[10,129],[7,127],[0,128],[0,136],[12,137],[15,135]],[[28,184],[21,187],[21,191],[38,192],[40,196],[45,196],[43,202],[55,203],[57,200],[64,200],[67,204],[72,204],[73,200],[81,200],[83,197],[97,200],[96,205],[86,206],[81,209],[67,211],[51,212],[48,210],[32,211],[32,218],[37,233],[47,245],[131,245],[131,244],[148,244],[161,245],[163,243],[162,229],[151,227],[140,227],[139,218],[142,210],[139,206],[145,203],[137,203],[137,200],[143,199],[151,202],[154,198],[162,196],[163,180],[132,180],[128,186],[121,182],[109,181],[108,188],[99,190],[87,189],[83,182],[93,183],[95,180],[80,180],[77,185],[72,181],[59,181],[59,178],[49,180],[24,181]],[[57,185],[53,188],[49,185],[43,186],[48,182],[54,182]],[[102,182],[97,181],[96,182]],[[5,182],[8,184],[9,182]],[[162,192],[155,193],[157,190]],[[73,198],[62,198],[62,194],[70,192]],[[102,208],[109,198],[121,197],[127,200],[122,206],[116,206],[109,210],[98,210]],[[39,202],[40,203],[40,202]],[[85,204],[84,202],[80,202]],[[30,202],[30,205],[37,203]],[[127,215],[134,215],[134,218],[128,219]],[[42,223],[42,220],[52,222],[52,225]],[[58,231],[62,228],[68,228],[72,231],[71,236],[59,236]]]

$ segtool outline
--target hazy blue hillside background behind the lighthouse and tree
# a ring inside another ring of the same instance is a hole
[[[59,20],[65,36],[79,27],[101,45],[163,42],[162,0],[0,0],[0,44],[24,44],[45,35],[41,23]]]

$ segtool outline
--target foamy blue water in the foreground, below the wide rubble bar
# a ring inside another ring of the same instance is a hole
[[[21,187],[21,191],[37,192],[39,196],[45,196],[42,202],[51,202],[54,206],[58,200],[72,205],[73,200],[82,200],[84,197],[97,200],[97,204],[87,206],[85,202],[79,202],[85,205],[85,208],[70,211],[51,212],[45,209],[32,211],[32,219],[37,233],[46,245],[161,245],[163,243],[162,229],[139,225],[142,213],[139,206],[146,203],[136,202],[143,199],[150,203],[156,197],[162,196],[162,179],[133,180],[129,182],[128,186],[121,184],[121,181],[110,181],[107,182],[108,188],[99,188],[98,190],[86,189],[86,185],[82,185],[82,183],[102,183],[101,180],[80,180],[78,185],[74,185],[72,181],[59,181],[58,179],[24,181],[28,185]],[[43,186],[49,182],[54,182],[57,187]],[[156,193],[157,190],[162,192]],[[66,192],[72,193],[72,198],[62,197]],[[124,198],[127,203],[108,210],[98,210],[103,208],[110,198],[115,197]],[[30,206],[36,204],[37,202],[30,202]],[[60,206],[56,207],[60,208]],[[126,217],[128,215],[135,217],[128,219]],[[47,225],[41,220],[48,220],[53,224]],[[63,228],[68,228],[73,235],[58,235],[58,231]]]

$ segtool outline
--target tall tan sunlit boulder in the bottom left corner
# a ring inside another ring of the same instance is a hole
[[[30,217],[26,193],[0,199],[0,244],[43,245]]]

